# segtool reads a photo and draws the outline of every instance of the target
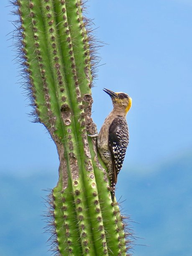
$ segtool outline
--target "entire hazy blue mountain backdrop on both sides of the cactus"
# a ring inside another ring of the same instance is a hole
[[[122,195],[124,214],[138,223],[130,223],[135,241],[134,256],[192,255],[192,154],[159,164],[154,168],[133,170],[123,166],[119,175],[117,198]],[[52,172],[52,173],[51,173]],[[53,174],[54,172],[54,174]],[[31,176],[30,176],[31,175]],[[41,189],[54,187],[57,171],[40,170],[36,174],[0,174],[0,255],[48,256],[51,252],[43,234]]]

